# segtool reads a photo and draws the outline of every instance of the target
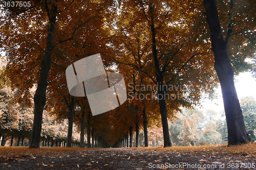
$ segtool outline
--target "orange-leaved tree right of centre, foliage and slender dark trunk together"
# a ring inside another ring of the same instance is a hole
[[[184,4],[188,11],[184,14],[182,9],[177,16],[177,10],[183,8]],[[199,91],[209,92],[212,88],[209,85],[199,90],[198,87],[202,86],[196,85],[204,81],[216,85],[216,75],[211,71],[211,58],[203,62],[208,52],[202,46],[208,45],[208,42],[201,41],[194,33],[192,23],[197,16],[188,8],[188,2],[125,1],[120,6],[120,20],[113,24],[114,32],[122,32],[120,43],[113,43],[114,50],[121,51],[117,53],[117,63],[131,66],[141,73],[141,77],[151,79],[148,82],[152,86],[155,84],[158,87],[156,99],[162,119],[164,147],[168,147],[171,142],[167,118],[172,117],[180,106],[197,104],[200,99]],[[193,37],[194,40],[198,38],[199,41],[189,48],[189,42],[193,38],[188,37]],[[138,45],[139,42],[141,45]],[[196,46],[199,42],[204,45]],[[191,84],[195,85],[194,90],[189,89]],[[184,89],[169,90],[169,86],[174,85],[176,88],[184,85]],[[177,97],[181,96],[189,97],[178,100]]]

